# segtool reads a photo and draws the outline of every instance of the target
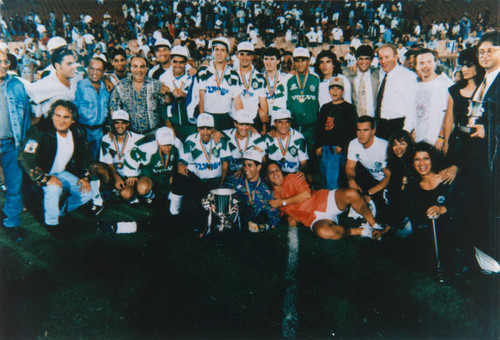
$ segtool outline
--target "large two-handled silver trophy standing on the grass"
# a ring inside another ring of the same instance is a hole
[[[222,232],[232,229],[238,220],[238,200],[234,198],[235,193],[233,189],[213,189],[202,201],[203,207],[209,210],[207,235],[212,230]]]

